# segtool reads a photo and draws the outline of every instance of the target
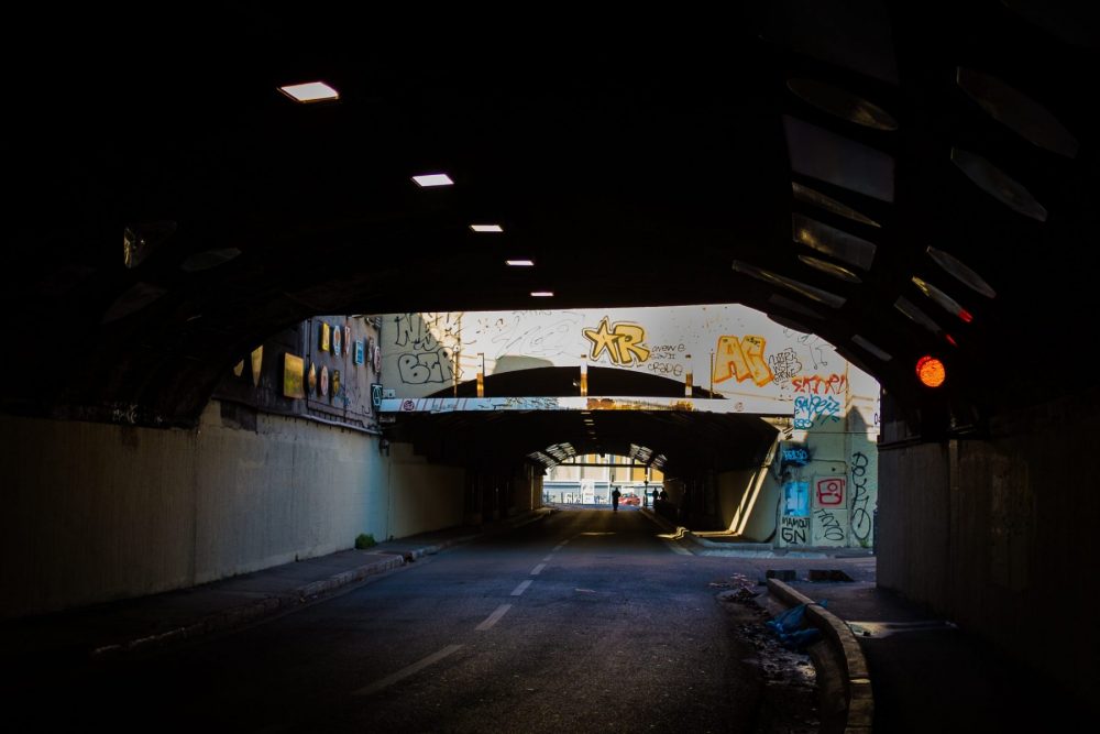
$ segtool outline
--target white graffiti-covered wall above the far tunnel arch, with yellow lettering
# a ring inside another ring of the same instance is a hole
[[[425,397],[455,382],[535,366],[634,370],[685,382],[761,412],[840,415],[854,394],[878,401],[873,379],[833,344],[740,304],[660,308],[389,314],[380,344],[387,388]],[[798,426],[796,426],[798,427]]]

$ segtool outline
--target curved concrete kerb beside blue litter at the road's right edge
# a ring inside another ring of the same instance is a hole
[[[840,686],[826,683],[818,688],[826,692],[825,695],[831,695],[827,691],[838,691],[840,699],[822,702],[820,731],[823,734],[870,734],[875,720],[871,675],[867,668],[867,658],[864,657],[856,636],[851,634],[851,628],[844,620],[779,579],[768,579],[768,590],[788,606],[806,605],[806,618],[821,631],[836,661]],[[818,666],[820,673],[828,675],[832,669],[833,666]],[[829,715],[831,712],[835,712],[834,715]]]

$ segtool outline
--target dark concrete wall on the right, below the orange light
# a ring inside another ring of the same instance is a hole
[[[1072,447],[1100,438],[1098,408],[1092,391],[998,419],[988,439],[880,450],[879,584],[1082,697],[1100,686],[1100,494]]]

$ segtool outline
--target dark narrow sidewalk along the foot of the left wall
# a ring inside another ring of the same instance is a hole
[[[190,589],[4,622],[0,659],[107,659],[141,653],[282,614],[443,548],[548,517],[541,508],[474,527],[457,527],[341,550]],[[9,669],[11,669],[9,667]]]

